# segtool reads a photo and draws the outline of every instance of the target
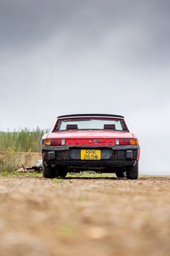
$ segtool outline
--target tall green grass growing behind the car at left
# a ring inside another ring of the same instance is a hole
[[[30,131],[25,128],[14,132],[0,132],[0,151],[8,151],[11,148],[14,152],[40,152],[40,140],[47,131]]]

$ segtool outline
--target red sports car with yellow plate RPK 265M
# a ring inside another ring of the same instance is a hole
[[[123,116],[58,116],[41,143],[45,178],[84,170],[138,178],[140,147]]]

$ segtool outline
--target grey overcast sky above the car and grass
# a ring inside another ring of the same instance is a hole
[[[141,173],[170,174],[169,0],[0,0],[0,130],[124,115]]]

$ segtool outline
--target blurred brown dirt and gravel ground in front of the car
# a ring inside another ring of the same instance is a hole
[[[2,256],[168,256],[170,177],[0,178]]]

